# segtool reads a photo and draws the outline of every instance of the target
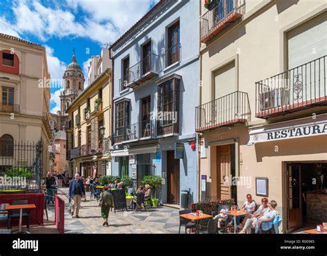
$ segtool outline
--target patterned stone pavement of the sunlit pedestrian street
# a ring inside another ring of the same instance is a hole
[[[61,198],[65,200],[65,233],[178,233],[179,210],[170,207],[158,207],[144,211],[116,211],[109,214],[109,226],[102,226],[100,207],[97,200],[90,201],[90,193],[86,193],[87,201],[81,202],[79,218],[69,215],[68,188],[59,189]],[[66,195],[63,195],[63,194]],[[182,232],[184,229],[182,229]]]

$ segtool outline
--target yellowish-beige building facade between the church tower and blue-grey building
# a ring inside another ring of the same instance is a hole
[[[106,69],[68,107],[69,176],[110,174],[111,70]]]

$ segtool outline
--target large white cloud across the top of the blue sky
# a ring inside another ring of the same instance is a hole
[[[41,41],[49,37],[88,37],[100,44],[113,43],[159,0],[66,0],[46,7],[39,0],[17,1],[13,6],[16,30]],[[77,11],[84,15],[79,21]],[[1,20],[0,20],[1,24]],[[9,25],[8,27],[12,27]],[[1,28],[1,27],[0,27]]]

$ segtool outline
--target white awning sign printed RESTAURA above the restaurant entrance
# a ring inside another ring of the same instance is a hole
[[[315,116],[315,118],[301,118],[252,128],[249,135],[248,146],[258,142],[327,135],[327,115],[323,114]]]

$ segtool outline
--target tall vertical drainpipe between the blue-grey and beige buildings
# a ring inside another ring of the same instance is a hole
[[[201,1],[199,3],[199,15],[201,15]],[[201,49],[201,19],[199,19],[199,105],[201,105],[201,96],[202,96],[202,56],[200,53]],[[197,120],[195,120],[197,121]],[[199,133],[197,134],[197,201],[201,200],[201,158],[200,158],[200,146],[199,141],[201,138],[199,137]]]

